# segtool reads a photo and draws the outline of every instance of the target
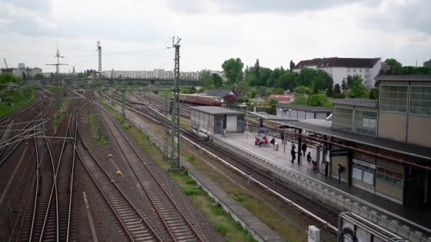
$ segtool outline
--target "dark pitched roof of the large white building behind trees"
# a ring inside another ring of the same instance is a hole
[[[372,68],[380,58],[315,58],[306,59],[296,64],[295,69],[306,67],[350,67]]]

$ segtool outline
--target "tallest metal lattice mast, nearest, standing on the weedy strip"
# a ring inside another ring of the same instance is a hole
[[[172,96],[172,149],[171,149],[171,169],[181,168],[181,155],[179,145],[179,42],[174,43],[175,38],[172,38],[172,47],[175,48],[175,67],[174,67],[174,94]]]

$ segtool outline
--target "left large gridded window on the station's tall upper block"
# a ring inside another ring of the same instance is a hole
[[[407,113],[408,86],[380,86],[379,110],[391,113]]]

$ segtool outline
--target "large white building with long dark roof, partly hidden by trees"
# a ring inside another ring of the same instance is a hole
[[[360,76],[364,84],[374,86],[374,77],[381,69],[381,58],[316,58],[307,59],[296,64],[293,71],[299,73],[303,68],[322,69],[334,80],[335,84],[342,83],[347,76]]]

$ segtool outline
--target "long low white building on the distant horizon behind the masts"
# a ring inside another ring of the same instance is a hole
[[[106,78],[118,79],[174,79],[174,71],[165,71],[164,69],[154,69],[152,71],[102,71]],[[180,71],[180,79],[198,80],[198,71]]]

